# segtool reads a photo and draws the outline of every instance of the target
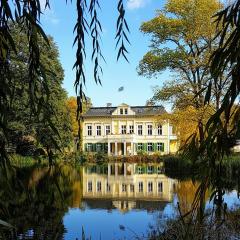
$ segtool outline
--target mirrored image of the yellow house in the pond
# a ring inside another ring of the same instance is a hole
[[[109,163],[83,171],[83,200],[90,208],[160,210],[172,190],[161,164]]]

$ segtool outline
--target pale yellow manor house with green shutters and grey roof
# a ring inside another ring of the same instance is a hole
[[[171,154],[178,149],[177,136],[162,106],[92,107],[83,116],[83,149],[112,156]]]

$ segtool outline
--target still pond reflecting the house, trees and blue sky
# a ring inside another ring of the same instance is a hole
[[[10,182],[0,178],[0,219],[15,226],[0,228],[0,239],[146,239],[191,209],[199,182],[172,175],[162,163],[17,168]],[[236,208],[228,186],[224,201]]]

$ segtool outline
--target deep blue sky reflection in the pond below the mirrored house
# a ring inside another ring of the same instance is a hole
[[[136,235],[145,235],[149,224],[153,224],[153,213],[147,211],[133,210],[127,213],[121,213],[118,210],[96,210],[70,209],[64,217],[64,226],[67,230],[65,240],[81,239],[82,227],[86,237],[93,240],[100,239],[123,239],[133,238]],[[120,225],[125,230],[120,229]]]

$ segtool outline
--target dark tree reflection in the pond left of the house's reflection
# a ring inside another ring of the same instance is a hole
[[[78,177],[73,168],[55,166],[16,171],[11,179],[0,178],[0,219],[16,227],[15,235],[0,230],[0,239],[62,239],[63,216],[73,200]],[[29,184],[31,183],[31,184]],[[2,235],[2,236],[1,236]]]

